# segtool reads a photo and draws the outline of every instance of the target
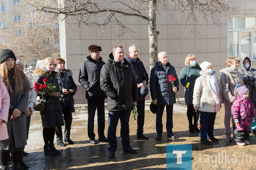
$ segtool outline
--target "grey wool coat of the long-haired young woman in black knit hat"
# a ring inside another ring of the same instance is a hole
[[[11,69],[8,74],[10,74],[9,79],[14,82],[12,70],[13,69]],[[0,141],[0,150],[3,150],[3,152],[21,151],[23,147],[27,145],[26,123],[30,86],[28,81],[23,79],[23,94],[16,94],[13,90],[13,87],[14,86],[11,86],[11,90],[13,93],[9,92],[10,107],[8,122],[6,124],[9,138]],[[15,108],[19,109],[22,114],[20,114],[20,116],[15,119],[10,119]]]

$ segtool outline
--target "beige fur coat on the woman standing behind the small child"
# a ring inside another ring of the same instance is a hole
[[[238,96],[237,84],[243,84],[242,74],[238,71],[231,70],[229,67],[220,70],[220,84],[224,104],[232,104],[235,97]]]

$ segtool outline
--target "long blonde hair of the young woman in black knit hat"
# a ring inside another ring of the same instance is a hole
[[[21,71],[18,67],[16,62],[14,62],[14,67],[13,67],[13,77],[15,81],[15,94],[17,93],[24,93],[24,84],[23,80],[25,79],[28,82],[28,85],[30,84],[27,76],[23,71]],[[3,82],[5,83],[5,86],[8,90],[9,93],[13,93],[13,90],[11,88],[10,80],[8,78],[10,68],[7,66],[6,62],[3,62],[1,64],[1,69],[0,69],[0,77],[3,79]],[[30,87],[30,86],[29,86]]]

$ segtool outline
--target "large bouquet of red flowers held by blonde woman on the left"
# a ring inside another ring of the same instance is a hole
[[[37,82],[34,83],[35,91],[39,91],[40,94],[49,92],[50,96],[53,92],[57,92],[57,87],[53,83],[48,83],[46,78],[43,80],[43,82],[44,84],[38,84]],[[59,96],[59,98],[65,102],[65,98],[63,98],[63,95]]]

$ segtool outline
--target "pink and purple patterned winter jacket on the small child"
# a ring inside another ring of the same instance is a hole
[[[233,119],[238,119],[238,130],[251,130],[251,117],[255,117],[255,108],[250,99],[238,98],[231,107]]]

